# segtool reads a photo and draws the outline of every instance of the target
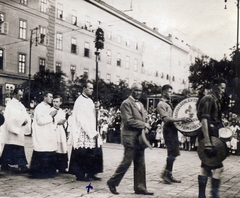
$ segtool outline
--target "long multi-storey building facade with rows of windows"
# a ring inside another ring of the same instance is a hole
[[[103,1],[0,0],[0,105],[39,70],[61,69],[68,80],[83,73],[94,79],[98,27],[105,36],[100,78],[169,83],[175,92],[188,88],[189,65],[202,54]]]

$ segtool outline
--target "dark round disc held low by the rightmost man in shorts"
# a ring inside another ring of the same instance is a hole
[[[204,145],[204,139],[203,139],[198,145],[198,150],[197,150],[198,157],[201,159],[201,161],[204,164],[208,166],[216,166],[226,159],[228,155],[228,149],[227,149],[227,145],[222,140],[216,137],[211,137],[211,142],[212,142],[212,145],[215,146],[215,148],[217,149],[217,155],[211,158],[206,156],[204,152],[205,145]]]

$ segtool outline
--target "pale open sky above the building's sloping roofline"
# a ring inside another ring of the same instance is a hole
[[[199,48],[209,57],[229,58],[237,43],[237,0],[103,0],[146,22],[159,33]],[[225,5],[227,9],[225,8]],[[132,11],[131,11],[132,7]]]

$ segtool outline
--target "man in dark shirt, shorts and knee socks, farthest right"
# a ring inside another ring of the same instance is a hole
[[[204,145],[206,152],[213,153],[213,145],[210,140],[211,136],[219,137],[219,129],[223,127],[221,121],[221,103],[222,95],[225,93],[226,81],[223,78],[215,78],[211,82],[211,92],[204,96],[197,106],[197,116],[202,124],[204,136]],[[201,173],[198,175],[199,198],[205,198],[205,189],[208,176],[212,176],[212,197],[218,197],[221,173],[223,172],[223,163],[220,162],[215,166],[209,166],[201,163]]]

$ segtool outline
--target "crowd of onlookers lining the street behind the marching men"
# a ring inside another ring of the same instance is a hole
[[[165,148],[162,126],[163,122],[159,114],[149,113],[148,122],[151,125],[151,130],[147,138],[155,148]],[[99,131],[102,135],[103,142],[120,143],[121,142],[121,117],[119,110],[100,109],[99,114]],[[226,142],[231,154],[240,155],[240,123],[239,120],[233,119],[227,122],[222,130],[227,130],[230,137],[220,137]],[[221,136],[221,133],[220,133]],[[198,135],[187,136],[178,132],[179,146],[181,150],[196,151],[199,145]]]

